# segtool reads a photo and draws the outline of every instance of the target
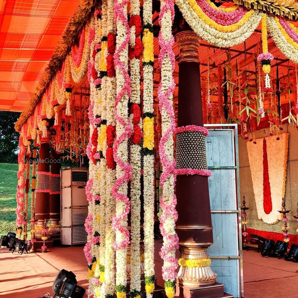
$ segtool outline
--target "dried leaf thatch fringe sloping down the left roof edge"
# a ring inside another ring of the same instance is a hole
[[[34,94],[32,95],[18,121],[15,122],[16,131],[21,131],[22,125],[33,113],[35,105],[38,103],[42,94],[49,86],[49,83],[55,76],[57,70],[61,67],[63,60],[69,53],[71,46],[74,44],[77,38],[77,35],[79,34],[82,27],[86,24],[86,21],[89,19],[91,8],[94,6],[95,2],[96,0],[80,0],[74,15],[70,18],[66,30],[63,32],[63,35],[58,42],[51,60],[49,61],[41,79],[37,84]]]

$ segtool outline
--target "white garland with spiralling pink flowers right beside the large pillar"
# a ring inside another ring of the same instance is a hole
[[[159,13],[159,63],[161,66],[161,82],[158,88],[159,110],[162,115],[162,138],[159,144],[160,160],[163,173],[160,176],[162,196],[160,206],[162,215],[160,217],[160,231],[163,235],[163,246],[160,256],[164,260],[162,277],[164,288],[169,298],[175,296],[176,268],[178,260],[175,257],[178,249],[178,236],[175,232],[175,222],[178,214],[176,207],[176,195],[174,193],[176,174],[174,159],[173,132],[176,128],[175,114],[173,110],[173,92],[175,81],[173,72],[175,70],[175,55],[172,50],[174,37],[172,35],[172,21],[174,19],[174,1],[162,0]]]

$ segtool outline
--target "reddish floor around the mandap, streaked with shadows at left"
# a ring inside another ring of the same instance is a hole
[[[158,255],[161,240],[156,241],[156,277],[162,285],[162,260]],[[73,271],[78,284],[87,288],[87,263],[83,247],[53,248],[41,254],[12,254],[0,249],[0,297],[37,298],[51,293],[60,269]],[[262,258],[255,251],[243,251],[244,298],[297,297],[298,263]]]

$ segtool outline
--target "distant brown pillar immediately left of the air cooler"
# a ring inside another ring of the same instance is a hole
[[[60,169],[61,160],[60,153],[55,149],[52,150],[51,155],[51,174],[50,174],[50,225],[49,235],[54,241],[53,245],[58,246],[60,241]]]

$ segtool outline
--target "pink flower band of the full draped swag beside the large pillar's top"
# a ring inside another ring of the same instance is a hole
[[[196,0],[196,2],[209,18],[222,26],[228,26],[238,23],[247,13],[247,10],[244,10],[242,7],[238,7],[236,10],[226,13],[224,11],[213,8],[205,0]]]

